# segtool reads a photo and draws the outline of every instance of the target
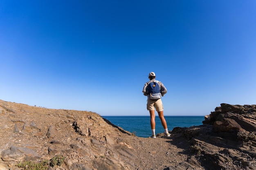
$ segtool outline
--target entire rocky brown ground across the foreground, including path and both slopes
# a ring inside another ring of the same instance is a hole
[[[0,170],[256,169],[256,106],[221,104],[201,126],[136,137],[97,113],[0,100]]]

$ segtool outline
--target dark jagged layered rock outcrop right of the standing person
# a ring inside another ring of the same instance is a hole
[[[256,105],[220,104],[205,116],[203,124],[173,129],[189,141],[201,166],[207,170],[256,169]]]

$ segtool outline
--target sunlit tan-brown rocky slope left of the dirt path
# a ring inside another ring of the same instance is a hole
[[[50,170],[135,169],[136,155],[123,140],[132,134],[96,113],[0,100],[0,115],[0,170],[21,170],[20,163],[44,160]]]

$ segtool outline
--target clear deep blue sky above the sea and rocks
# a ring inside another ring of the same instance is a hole
[[[148,115],[151,71],[164,115],[256,104],[256,1],[0,1],[4,101]]]

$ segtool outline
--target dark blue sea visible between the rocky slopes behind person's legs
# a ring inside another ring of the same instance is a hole
[[[112,124],[123,128],[137,137],[150,137],[150,116],[103,116]],[[191,127],[202,125],[204,116],[164,116],[168,130],[175,127]],[[155,133],[163,133],[164,128],[158,116],[155,117]]]

